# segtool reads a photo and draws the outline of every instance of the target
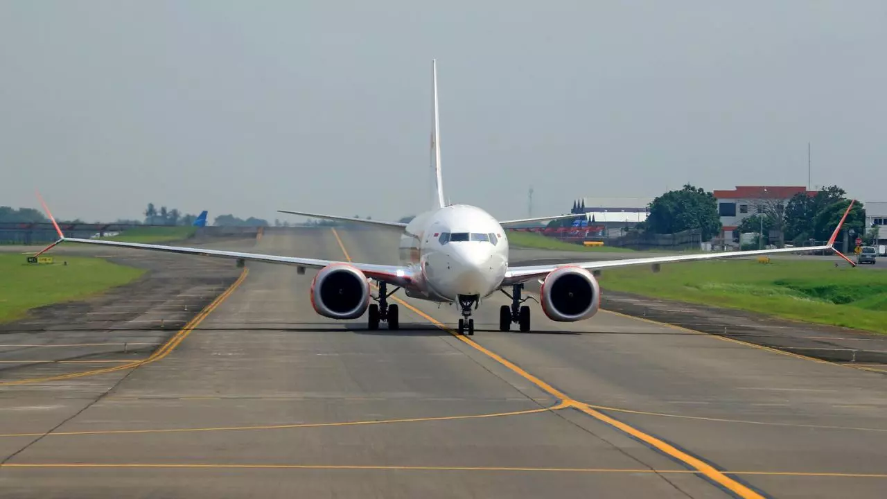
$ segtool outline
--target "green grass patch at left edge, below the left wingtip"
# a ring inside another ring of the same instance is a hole
[[[145,273],[101,258],[55,257],[51,265],[29,265],[26,257],[0,254],[0,322],[20,319],[37,306],[90,297]]]

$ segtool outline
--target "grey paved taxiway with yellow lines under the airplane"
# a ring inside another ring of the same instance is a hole
[[[365,230],[269,231],[243,249],[396,263],[396,241]],[[142,357],[153,360],[130,368],[54,380],[37,367],[0,371],[0,493],[882,497],[887,488],[883,374],[608,312],[555,323],[534,305],[532,332],[502,333],[504,296],[475,312],[475,337],[448,330],[455,308],[405,298],[401,330],[368,331],[314,313],[312,277],[247,265],[205,313],[156,338]],[[4,360],[24,354],[9,348]]]

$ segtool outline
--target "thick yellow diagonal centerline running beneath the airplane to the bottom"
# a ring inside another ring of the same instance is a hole
[[[348,250],[345,249],[345,245],[341,242],[341,237],[339,237],[339,233],[337,233],[334,228],[332,229],[332,231],[335,236],[336,242],[339,243],[339,247],[341,248],[342,254],[344,254],[345,258],[348,259],[348,261],[350,262],[351,257],[348,254]],[[726,476],[726,474],[723,471],[719,471],[715,467],[711,466],[709,463],[706,463],[706,462],[702,461],[701,459],[694,457],[693,455],[689,455],[686,452],[680,450],[679,448],[675,448],[671,444],[666,443],[663,440],[657,439],[653,435],[649,435],[645,432],[641,432],[640,430],[638,430],[637,428],[634,428],[633,426],[631,426],[629,424],[625,424],[616,418],[607,416],[607,415],[601,413],[600,411],[591,408],[590,406],[588,406],[585,403],[579,402],[577,400],[573,400],[567,394],[561,392],[560,390],[557,390],[552,385],[547,384],[545,381],[542,381],[541,379],[539,379],[537,376],[533,376],[530,373],[528,373],[527,371],[523,370],[522,368],[519,368],[512,361],[506,360],[501,355],[498,355],[498,353],[491,352],[489,349],[483,347],[482,345],[475,343],[474,340],[471,340],[471,339],[468,339],[467,337],[463,337],[463,336],[459,335],[458,332],[447,327],[445,324],[443,324],[443,322],[437,321],[436,319],[434,319],[433,317],[431,317],[427,313],[424,313],[424,312],[420,311],[418,308],[406,303],[404,300],[402,300],[398,297],[391,297],[391,299],[401,305],[404,305],[406,308],[410,309],[413,313],[418,314],[423,319],[430,321],[437,328],[447,331],[453,337],[455,337],[456,339],[458,339],[459,341],[461,341],[465,345],[471,346],[475,350],[487,355],[492,360],[496,360],[498,363],[502,364],[506,368],[511,369],[512,371],[514,371],[514,373],[516,373],[519,376],[522,376],[524,379],[530,381],[530,383],[537,385],[544,392],[547,392],[547,393],[553,395],[554,397],[556,397],[557,399],[561,400],[561,403],[563,403],[569,407],[577,408],[578,410],[584,412],[588,416],[592,416],[593,418],[597,419],[598,421],[608,424],[621,432],[632,435],[632,437],[646,442],[649,446],[658,449],[660,452],[663,452],[666,455],[671,455],[671,457],[694,468],[696,471],[702,473],[703,476],[705,476],[706,478],[718,483],[718,485],[720,485],[721,487],[725,487],[727,490],[730,490],[735,495],[739,495],[743,499],[763,499],[764,498],[763,495],[760,495],[757,492],[755,492],[754,490],[752,490],[751,488],[746,487],[745,485],[742,485],[742,483],[736,481],[735,479],[732,479],[732,478]]]

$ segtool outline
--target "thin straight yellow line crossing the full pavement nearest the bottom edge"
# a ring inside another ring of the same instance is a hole
[[[342,470],[342,471],[518,471],[559,473],[645,473],[698,475],[694,470],[652,470],[649,468],[545,468],[530,466],[396,466],[373,464],[250,464],[250,463],[4,463],[3,468],[183,468],[218,470]],[[827,477],[887,479],[887,473],[842,473],[829,471],[724,471],[729,475],[775,477]]]

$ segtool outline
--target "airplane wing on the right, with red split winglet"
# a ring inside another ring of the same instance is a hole
[[[835,249],[835,240],[837,239],[837,234],[841,230],[841,226],[844,225],[844,219],[847,218],[847,215],[850,214],[850,210],[853,207],[853,202],[850,202],[850,206],[847,207],[847,210],[844,212],[844,217],[841,218],[841,222],[835,229],[835,232],[832,234],[831,239],[828,240],[828,244],[822,246],[806,246],[803,248],[778,248],[778,249],[754,249],[750,251],[725,251],[721,253],[700,253],[695,255],[676,255],[670,257],[646,257],[646,258],[625,258],[619,260],[600,260],[600,261],[590,261],[590,262],[578,262],[578,263],[564,263],[564,264],[549,264],[549,265],[521,265],[521,266],[509,266],[508,270],[505,274],[505,279],[502,281],[503,286],[510,286],[512,284],[517,284],[523,281],[530,281],[532,279],[539,279],[548,275],[548,273],[553,272],[559,267],[562,266],[574,266],[584,268],[586,270],[600,270],[605,268],[618,268],[624,266],[631,265],[660,265],[660,264],[671,264],[678,262],[698,262],[704,260],[718,260],[721,258],[735,258],[735,257],[755,257],[758,255],[778,255],[781,253],[805,253],[811,251],[822,251],[822,250],[830,250],[836,253],[839,257],[847,260],[851,265],[856,266],[852,262],[852,260],[848,257],[845,257],[840,251]]]

